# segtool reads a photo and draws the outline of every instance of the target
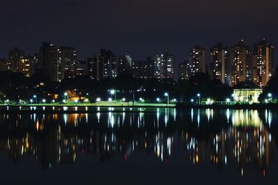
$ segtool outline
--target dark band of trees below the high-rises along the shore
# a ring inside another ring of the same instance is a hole
[[[242,83],[235,88],[250,88],[250,84]],[[273,97],[278,93],[278,75],[269,81],[265,87],[261,99],[271,92]],[[219,81],[211,80],[208,74],[197,73],[193,77],[184,81],[173,81],[172,79],[134,79],[128,74],[122,74],[114,79],[104,79],[101,81],[92,80],[86,76],[72,79],[63,79],[60,83],[51,81],[44,74],[33,74],[31,77],[24,77],[22,73],[0,72],[0,98],[18,101],[28,100],[33,95],[38,99],[52,99],[53,95],[63,98],[63,93],[67,90],[75,92],[77,95],[87,97],[90,102],[94,102],[97,97],[106,99],[111,97],[109,90],[116,90],[115,97],[126,100],[138,100],[142,97],[147,102],[154,102],[157,97],[165,100],[164,93],[169,93],[170,99],[177,99],[177,102],[190,102],[190,99],[198,99],[197,93],[201,94],[203,100],[208,97],[215,101],[225,101],[231,97],[233,88],[224,85]],[[52,97],[51,97],[52,96]]]

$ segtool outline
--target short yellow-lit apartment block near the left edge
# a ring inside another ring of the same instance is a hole
[[[24,73],[25,77],[31,77],[34,73],[34,62],[33,56],[24,56],[19,59],[18,62],[18,72]]]

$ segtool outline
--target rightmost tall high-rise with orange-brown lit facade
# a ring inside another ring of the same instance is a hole
[[[254,45],[253,82],[261,88],[267,85],[274,73],[274,50],[275,47],[268,45],[265,39]]]

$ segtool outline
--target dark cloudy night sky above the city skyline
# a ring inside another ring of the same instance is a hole
[[[42,41],[76,47],[79,58],[99,48],[136,60],[167,49],[177,61],[196,44],[278,44],[277,0],[9,0],[0,8],[0,57],[16,46],[33,54]]]

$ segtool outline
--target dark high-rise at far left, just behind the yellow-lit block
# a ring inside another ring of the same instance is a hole
[[[24,51],[15,47],[8,52],[7,70],[10,72],[18,72],[19,59],[24,57]]]

